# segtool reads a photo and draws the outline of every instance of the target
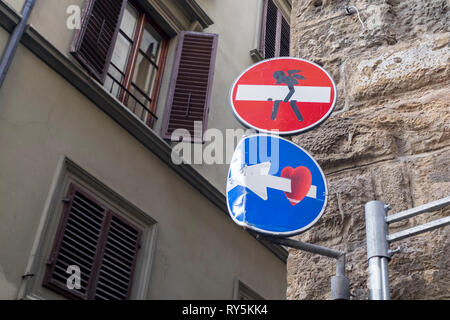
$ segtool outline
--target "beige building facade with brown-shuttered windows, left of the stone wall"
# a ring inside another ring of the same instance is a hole
[[[0,1],[2,52],[26,3]],[[228,216],[226,159],[173,148],[243,131],[229,87],[288,55],[290,6],[35,1],[0,88],[0,298],[285,298],[287,251]]]

